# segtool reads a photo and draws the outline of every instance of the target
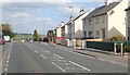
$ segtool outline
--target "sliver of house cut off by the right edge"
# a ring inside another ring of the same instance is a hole
[[[130,40],[130,7],[125,10],[127,12],[127,39]]]

